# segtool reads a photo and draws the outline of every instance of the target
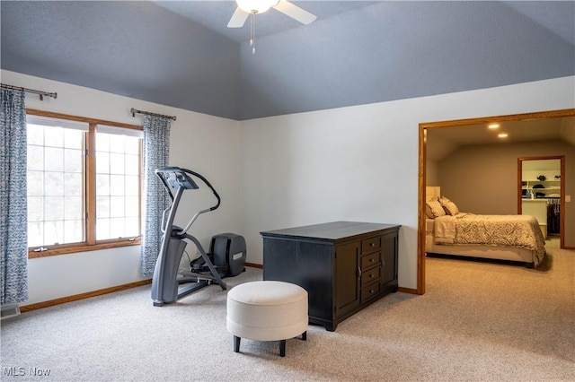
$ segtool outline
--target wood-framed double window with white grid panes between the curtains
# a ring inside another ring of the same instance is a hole
[[[141,127],[28,112],[30,256],[139,244]]]

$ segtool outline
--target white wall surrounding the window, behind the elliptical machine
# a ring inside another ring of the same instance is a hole
[[[237,199],[240,132],[237,121],[4,70],[2,83],[57,92],[56,100],[45,97],[43,101],[36,95],[27,94],[26,107],[31,109],[133,125],[141,125],[142,117],[132,117],[130,108],[176,116],[177,120],[171,128],[170,164],[193,169],[204,175],[216,187],[223,200],[216,212],[199,218],[193,234],[208,247],[214,233],[240,230]],[[200,190],[195,193],[190,192],[182,198],[176,223],[184,225],[197,209],[214,203],[211,194]],[[193,248],[189,250],[192,251]],[[190,255],[194,255],[193,252]],[[25,305],[145,279],[139,274],[139,261],[140,247],[30,259],[30,299]]]

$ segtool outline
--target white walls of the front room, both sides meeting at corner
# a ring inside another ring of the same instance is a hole
[[[57,91],[29,95],[32,109],[139,124],[130,108],[176,115],[171,164],[198,170],[222,207],[200,218],[194,235],[245,237],[248,261],[261,264],[261,230],[325,221],[402,224],[399,284],[417,287],[418,126],[421,122],[575,108],[575,77],[480,91],[236,122],[129,99],[63,82],[2,71],[2,82]],[[184,224],[207,195],[185,195]],[[202,204],[205,205],[205,204]],[[34,303],[140,279],[139,248],[31,259]]]

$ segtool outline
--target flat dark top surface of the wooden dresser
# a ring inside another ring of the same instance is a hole
[[[260,233],[264,238],[337,240],[382,230],[398,230],[400,227],[401,226],[398,224],[369,223],[361,221],[332,221],[284,230],[267,230]]]

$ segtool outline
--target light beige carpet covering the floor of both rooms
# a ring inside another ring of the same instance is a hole
[[[232,351],[217,286],[163,308],[146,286],[35,310],[2,321],[2,380],[573,381],[575,252],[549,246],[539,270],[429,258],[425,295],[386,296],[333,333],[310,326],[285,358],[278,343]],[[226,282],[252,280],[261,270]]]

